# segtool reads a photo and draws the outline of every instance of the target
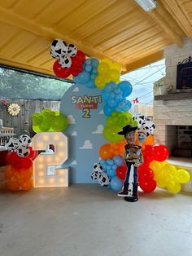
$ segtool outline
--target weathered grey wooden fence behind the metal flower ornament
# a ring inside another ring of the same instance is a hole
[[[2,99],[0,99],[0,102]],[[44,108],[59,110],[60,101],[33,100],[33,99],[7,99],[8,104],[19,104],[20,113],[18,116],[11,116],[6,107],[0,106],[0,119],[2,126],[14,128],[14,133],[19,135],[33,135],[32,115],[34,112],[41,112]]]

